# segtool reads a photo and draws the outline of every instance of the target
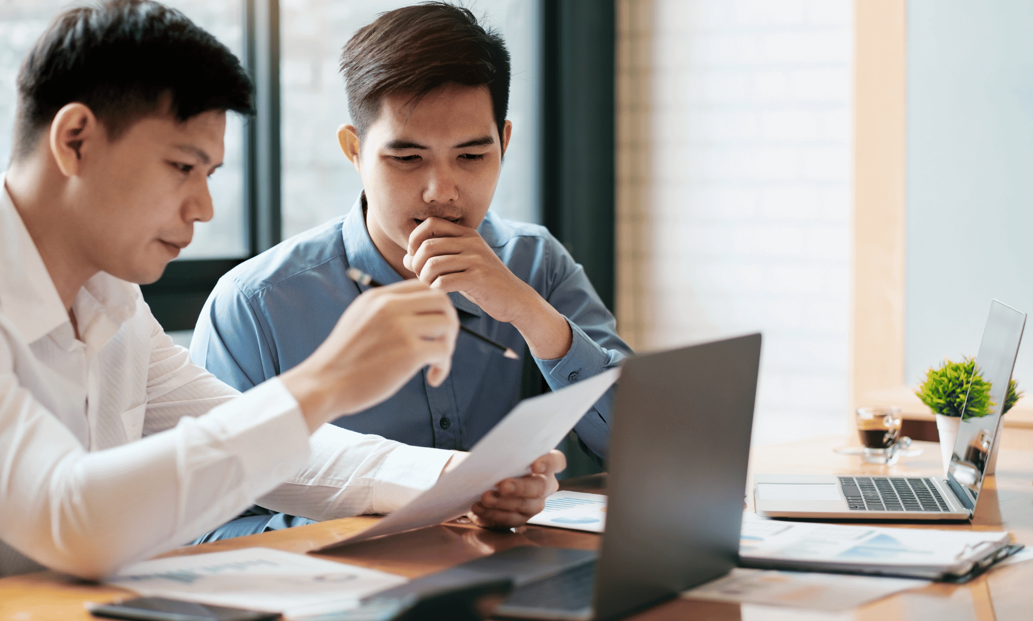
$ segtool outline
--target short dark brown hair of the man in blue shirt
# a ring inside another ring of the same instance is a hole
[[[487,85],[499,139],[509,105],[509,52],[469,9],[425,2],[381,13],[355,32],[341,53],[348,112],[362,138],[380,115],[384,95],[418,100],[448,83]]]

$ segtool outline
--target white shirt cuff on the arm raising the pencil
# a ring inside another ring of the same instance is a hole
[[[195,420],[240,460],[249,495],[268,492],[309,459],[309,428],[298,400],[274,377]]]

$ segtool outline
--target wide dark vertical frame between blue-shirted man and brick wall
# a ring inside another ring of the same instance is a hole
[[[615,296],[614,0],[542,0],[542,223]]]

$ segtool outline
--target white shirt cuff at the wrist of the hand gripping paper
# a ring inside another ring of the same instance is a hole
[[[442,448],[398,444],[374,476],[375,510],[389,514],[434,487],[452,455]]]

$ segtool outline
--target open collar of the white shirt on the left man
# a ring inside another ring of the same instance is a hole
[[[0,174],[0,312],[32,343],[70,321],[5,179]],[[72,308],[84,341],[99,348],[135,312],[135,287],[100,272],[80,289]]]

